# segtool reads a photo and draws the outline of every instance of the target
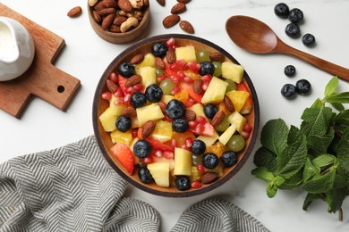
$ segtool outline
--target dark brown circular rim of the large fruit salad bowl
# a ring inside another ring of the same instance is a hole
[[[244,70],[243,78],[245,79],[245,81],[248,84],[248,87],[250,88],[251,95],[254,96],[252,98],[253,108],[254,108],[254,123],[252,125],[253,126],[253,130],[252,130],[252,134],[251,134],[250,144],[247,147],[245,153],[243,154],[243,158],[241,159],[240,162],[238,162],[236,164],[234,169],[229,171],[228,173],[226,173],[226,176],[224,178],[217,179],[217,181],[213,182],[209,186],[196,188],[196,189],[193,189],[193,190],[190,190],[190,191],[183,191],[183,192],[175,192],[174,193],[174,192],[159,191],[157,189],[153,189],[153,188],[150,188],[148,186],[141,185],[137,181],[133,180],[130,177],[129,174],[124,173],[123,170],[120,170],[117,167],[115,162],[113,162],[113,160],[109,157],[109,155],[108,155],[108,153],[106,151],[106,147],[103,145],[103,141],[102,141],[101,137],[98,136],[99,135],[99,131],[98,131],[98,115],[97,115],[97,113],[98,113],[98,102],[99,102],[99,98],[100,98],[100,95],[101,95],[101,90],[102,90],[102,88],[104,87],[104,85],[106,83],[106,79],[108,78],[108,74],[110,74],[111,71],[115,70],[115,64],[120,62],[120,61],[122,61],[123,58],[127,54],[131,53],[132,51],[134,51],[139,46],[142,46],[144,44],[149,44],[149,43],[152,43],[152,42],[156,42],[156,41],[159,41],[159,40],[166,40],[166,39],[169,39],[171,37],[194,40],[194,41],[200,42],[201,44],[205,44],[207,46],[211,46],[214,49],[216,49],[217,51],[221,52],[222,54],[225,54],[226,57],[229,60],[231,60],[232,62],[234,62],[236,64],[240,64],[231,54],[226,52],[225,49],[223,49],[222,47],[217,46],[216,44],[210,42],[209,40],[206,40],[206,39],[201,38],[201,37],[195,37],[195,36],[184,35],[184,34],[162,34],[162,35],[157,35],[157,36],[154,36],[154,37],[144,38],[144,39],[140,40],[139,42],[137,42],[137,43],[133,44],[132,46],[129,46],[128,48],[123,50],[122,53],[118,54],[115,57],[115,59],[112,62],[110,62],[110,64],[107,66],[106,70],[103,72],[101,78],[99,79],[98,86],[96,88],[95,95],[93,97],[93,106],[92,106],[93,130],[94,130],[94,134],[95,134],[96,141],[98,143],[98,147],[100,149],[100,152],[105,157],[106,162],[108,162],[109,165],[113,168],[113,170],[115,170],[116,173],[118,173],[123,179],[125,179],[128,183],[132,184],[132,186],[135,186],[135,187],[139,188],[140,190],[148,192],[149,194],[152,194],[152,195],[159,195],[159,196],[166,196],[166,197],[187,197],[187,196],[201,195],[201,194],[207,193],[207,192],[209,192],[209,191],[211,191],[213,189],[216,189],[218,186],[223,185],[224,183],[226,183],[226,181],[228,181],[230,178],[232,178],[239,170],[241,170],[243,168],[243,165],[245,164],[245,162],[250,157],[251,152],[254,149],[254,146],[256,144],[256,140],[257,140],[258,132],[259,132],[259,128],[260,128],[260,104],[259,104],[259,101],[258,101],[257,92],[256,92],[256,90],[255,90],[255,88],[253,86],[253,83],[252,83],[252,81],[250,79],[250,76],[248,75],[246,70]]]

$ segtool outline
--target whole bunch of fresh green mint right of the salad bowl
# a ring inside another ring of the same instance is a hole
[[[300,187],[308,192],[304,211],[313,201],[322,200],[328,212],[338,211],[343,220],[341,207],[349,195],[349,110],[344,107],[349,92],[336,93],[337,87],[334,77],[324,97],[302,112],[299,128],[288,128],[282,119],[269,120],[254,155],[257,168],[251,173],[268,183],[268,197],[278,189]]]

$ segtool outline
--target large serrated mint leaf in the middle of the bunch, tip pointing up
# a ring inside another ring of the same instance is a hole
[[[294,143],[286,146],[283,153],[277,156],[277,174],[287,179],[301,170],[307,159],[307,141],[301,130],[293,135]]]

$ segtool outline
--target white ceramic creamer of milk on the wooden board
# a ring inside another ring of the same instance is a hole
[[[0,16],[0,81],[15,79],[33,62],[33,38],[20,22]]]

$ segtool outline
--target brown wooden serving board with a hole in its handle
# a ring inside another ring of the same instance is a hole
[[[64,39],[4,4],[0,4],[0,16],[19,21],[28,29],[36,49],[29,70],[17,79],[0,81],[0,108],[20,118],[30,97],[38,96],[65,111],[81,83],[79,79],[57,69],[53,64],[65,46]]]

